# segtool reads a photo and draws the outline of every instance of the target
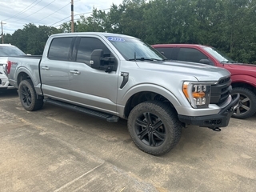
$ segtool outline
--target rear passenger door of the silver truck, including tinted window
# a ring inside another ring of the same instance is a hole
[[[64,100],[70,98],[70,59],[74,39],[54,38],[51,42],[47,57],[40,63],[44,95]]]

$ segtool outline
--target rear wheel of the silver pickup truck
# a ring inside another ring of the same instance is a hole
[[[37,98],[33,82],[30,79],[23,80],[18,86],[18,96],[25,110],[39,110],[42,108],[43,99]]]

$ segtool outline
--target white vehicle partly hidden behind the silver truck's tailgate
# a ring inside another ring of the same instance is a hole
[[[10,44],[0,44],[0,90],[14,88],[14,86],[10,86],[4,68],[6,67],[7,59],[9,56],[20,55],[25,54],[22,52],[22,50],[18,49],[17,46],[12,46]]]

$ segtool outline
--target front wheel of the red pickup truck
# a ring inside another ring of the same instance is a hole
[[[256,112],[256,95],[253,91],[243,87],[234,87],[231,94],[240,94],[240,103],[234,113],[233,118],[250,118]]]

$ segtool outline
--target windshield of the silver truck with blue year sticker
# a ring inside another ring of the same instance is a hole
[[[126,60],[165,60],[166,58],[151,46],[137,38],[106,37]]]

